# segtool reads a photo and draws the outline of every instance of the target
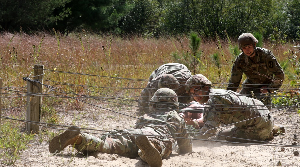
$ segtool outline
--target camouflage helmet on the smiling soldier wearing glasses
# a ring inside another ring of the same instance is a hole
[[[190,94],[190,89],[195,85],[211,86],[211,82],[202,74],[193,75],[187,80],[187,82],[184,85],[187,94]]]

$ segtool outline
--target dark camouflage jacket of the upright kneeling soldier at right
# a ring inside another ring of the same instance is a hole
[[[227,90],[237,91],[243,73],[247,79],[243,87],[261,88],[266,85],[270,92],[280,88],[284,73],[273,53],[267,49],[256,47],[256,55],[251,61],[243,52],[236,58]],[[250,84],[250,85],[247,85]]]

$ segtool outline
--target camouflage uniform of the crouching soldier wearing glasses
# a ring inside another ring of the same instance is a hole
[[[219,127],[223,123],[226,125],[235,125],[235,127],[226,130],[227,132],[231,132],[230,137],[259,141],[273,139],[273,117],[271,114],[268,114],[269,110],[259,100],[240,95],[230,90],[211,89],[204,111],[204,126],[200,129],[200,132],[208,130],[208,133],[212,134],[205,133],[205,135],[198,136],[198,138],[208,139],[214,135],[217,130],[216,127]],[[218,134],[222,135],[222,131]],[[247,142],[242,139],[230,137],[217,136],[217,139],[232,142]]]

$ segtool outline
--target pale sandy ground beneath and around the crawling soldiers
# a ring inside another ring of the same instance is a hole
[[[125,109],[119,107],[118,112],[125,115],[137,117],[137,109]],[[73,123],[79,127],[112,130],[132,128],[136,118],[120,115],[111,111],[99,108],[82,109],[82,111],[58,112],[61,122],[70,126]],[[300,166],[300,119],[295,109],[282,110],[272,114],[276,124],[283,124],[286,133],[277,136],[272,144],[232,144],[224,141],[193,141],[193,152],[189,154],[177,154],[173,151],[167,159],[163,160],[163,167],[241,167],[241,166]],[[58,130],[49,129],[58,133]],[[86,132],[95,132],[86,130]],[[99,133],[96,131],[96,133]],[[96,135],[100,137],[101,135]],[[49,139],[44,137],[42,143],[33,142],[23,152],[21,159],[13,166],[80,166],[80,167],[144,167],[148,166],[140,157],[130,159],[116,154],[98,153],[85,156],[74,151],[68,146],[58,154],[50,154],[48,150]],[[214,137],[212,137],[214,138]],[[0,166],[6,166],[0,163]]]

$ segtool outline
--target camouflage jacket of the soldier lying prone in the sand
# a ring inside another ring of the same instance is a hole
[[[135,123],[135,128],[141,129],[144,127],[150,127],[170,138],[178,137],[176,140],[179,146],[179,153],[188,153],[193,150],[185,122],[173,109],[159,109],[154,113],[143,115]]]

